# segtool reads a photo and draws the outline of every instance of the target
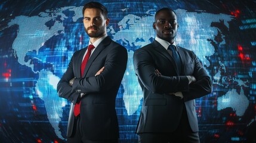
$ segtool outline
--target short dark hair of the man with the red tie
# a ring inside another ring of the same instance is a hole
[[[85,9],[87,9],[87,8],[97,8],[101,11],[104,18],[107,18],[107,8],[104,7],[104,5],[100,4],[99,2],[88,2],[87,4],[85,4],[83,11],[82,11],[83,16],[85,13]]]

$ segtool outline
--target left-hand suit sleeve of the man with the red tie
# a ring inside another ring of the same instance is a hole
[[[66,72],[63,74],[60,81],[58,82],[57,92],[59,97],[66,98],[67,100],[72,101],[73,103],[76,103],[76,100],[78,99],[79,94],[77,92],[72,92],[72,87],[69,85],[69,80],[73,78],[74,78],[74,73],[73,73],[73,56],[72,56]]]

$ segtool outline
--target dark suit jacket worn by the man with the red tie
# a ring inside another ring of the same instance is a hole
[[[67,71],[58,82],[59,97],[71,101],[67,136],[72,135],[75,116],[73,108],[78,95],[81,99],[81,123],[88,139],[119,138],[118,119],[115,110],[116,94],[127,67],[127,49],[107,36],[92,52],[81,77],[82,58],[87,48],[76,51],[70,60]],[[98,70],[103,72],[95,76]],[[76,77],[73,86],[69,80]]]

